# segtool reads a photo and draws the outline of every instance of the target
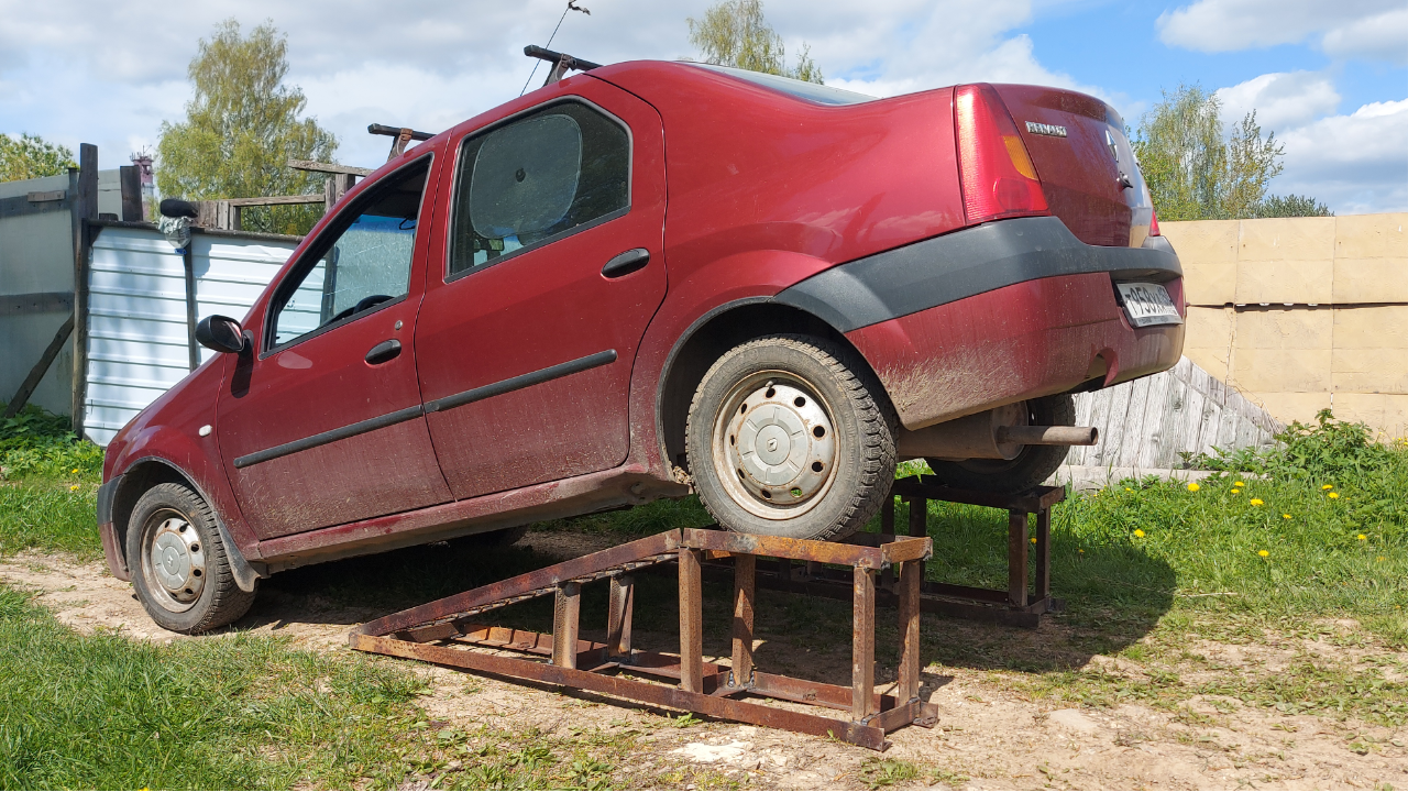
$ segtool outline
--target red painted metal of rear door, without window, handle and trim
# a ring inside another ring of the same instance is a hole
[[[480,402],[427,414],[455,497],[474,497],[604,471],[625,461],[631,366],[646,324],[665,297],[665,140],[659,114],[601,80],[576,80],[576,96],[631,130],[631,207],[624,217],[525,251],[446,282],[445,223],[435,224],[425,303],[415,328],[427,402],[604,351],[612,364]],[[438,204],[453,196],[451,135]],[[615,255],[645,248],[649,264],[607,279]]]

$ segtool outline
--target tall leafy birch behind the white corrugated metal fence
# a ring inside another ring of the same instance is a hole
[[[186,120],[162,123],[156,185],[187,200],[317,193],[322,178],[287,168],[289,159],[328,162],[338,148],[315,118],[300,118],[307,100],[289,73],[287,38],[265,23],[245,38],[239,23],[215,25],[201,39],[186,73],[194,94]],[[252,231],[306,233],[320,217],[313,207],[270,207],[244,213]]]

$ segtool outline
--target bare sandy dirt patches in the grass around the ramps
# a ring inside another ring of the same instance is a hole
[[[531,534],[543,550],[543,534]],[[596,550],[598,537],[560,536],[546,540],[558,557]],[[276,578],[277,579],[277,578]],[[80,630],[115,630],[135,640],[187,638],[158,629],[142,612],[127,583],[107,575],[101,564],[75,564],[51,555],[20,555],[0,562],[0,581],[44,592],[38,600]],[[255,634],[286,636],[296,644],[328,652],[346,648],[353,624],[384,614],[366,607],[338,605],[321,595],[260,593],[255,610],[239,629]],[[1011,633],[998,627],[972,627],[925,619],[926,633],[946,633],[953,640],[980,640],[974,630]],[[1043,626],[1025,638],[1036,651]],[[762,630],[759,630],[762,634]],[[590,636],[584,636],[590,637]],[[846,651],[815,651],[805,640],[772,636],[772,647],[759,648],[759,665],[767,671],[839,681],[849,674]],[[669,645],[670,636],[645,634],[638,643]],[[849,644],[849,641],[845,641]],[[650,647],[653,648],[653,647]],[[849,645],[846,647],[849,648]],[[1286,662],[1283,647],[1204,641],[1195,647],[1215,658],[1226,674],[1266,674]],[[1309,645],[1311,650],[1316,647]],[[765,651],[770,650],[770,651]],[[1326,652],[1345,651],[1319,647]],[[767,658],[793,658],[793,668],[767,665]],[[800,660],[798,660],[800,658]],[[708,658],[722,660],[727,658]],[[893,660],[891,660],[893,662]],[[1126,660],[1094,655],[1090,664],[1118,671]],[[681,760],[708,765],[719,776],[749,788],[855,789],[874,782],[877,760],[905,760],[925,775],[898,788],[1157,788],[1157,789],[1385,789],[1408,786],[1408,751],[1404,737],[1353,720],[1287,716],[1257,707],[1218,707],[1214,700],[1193,700],[1190,709],[1205,719],[1176,717],[1143,706],[1117,709],[1056,709],[1032,700],[1004,675],[991,669],[936,667],[925,672],[924,695],[939,707],[934,730],[910,727],[891,736],[884,754],[770,729],[721,722],[673,727],[662,714],[617,706],[594,696],[563,695],[551,688],[529,688],[498,679],[473,678],[453,671],[421,667],[431,692],[421,705],[435,719],[460,729],[479,724],[543,731],[569,729],[635,729],[645,734],[641,767],[677,765]],[[877,679],[893,681],[881,655]],[[1197,723],[1190,726],[1188,723]],[[1362,736],[1377,748],[1352,750]]]

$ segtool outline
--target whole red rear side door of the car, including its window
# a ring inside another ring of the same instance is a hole
[[[573,93],[451,142],[415,352],[455,497],[629,451],[631,366],[666,287],[665,138],[624,90]]]

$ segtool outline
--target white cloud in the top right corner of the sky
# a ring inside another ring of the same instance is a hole
[[[1160,14],[1157,27],[1164,44],[1200,52],[1297,44],[1316,34],[1336,56],[1402,61],[1408,47],[1402,0],[1197,0]]]

